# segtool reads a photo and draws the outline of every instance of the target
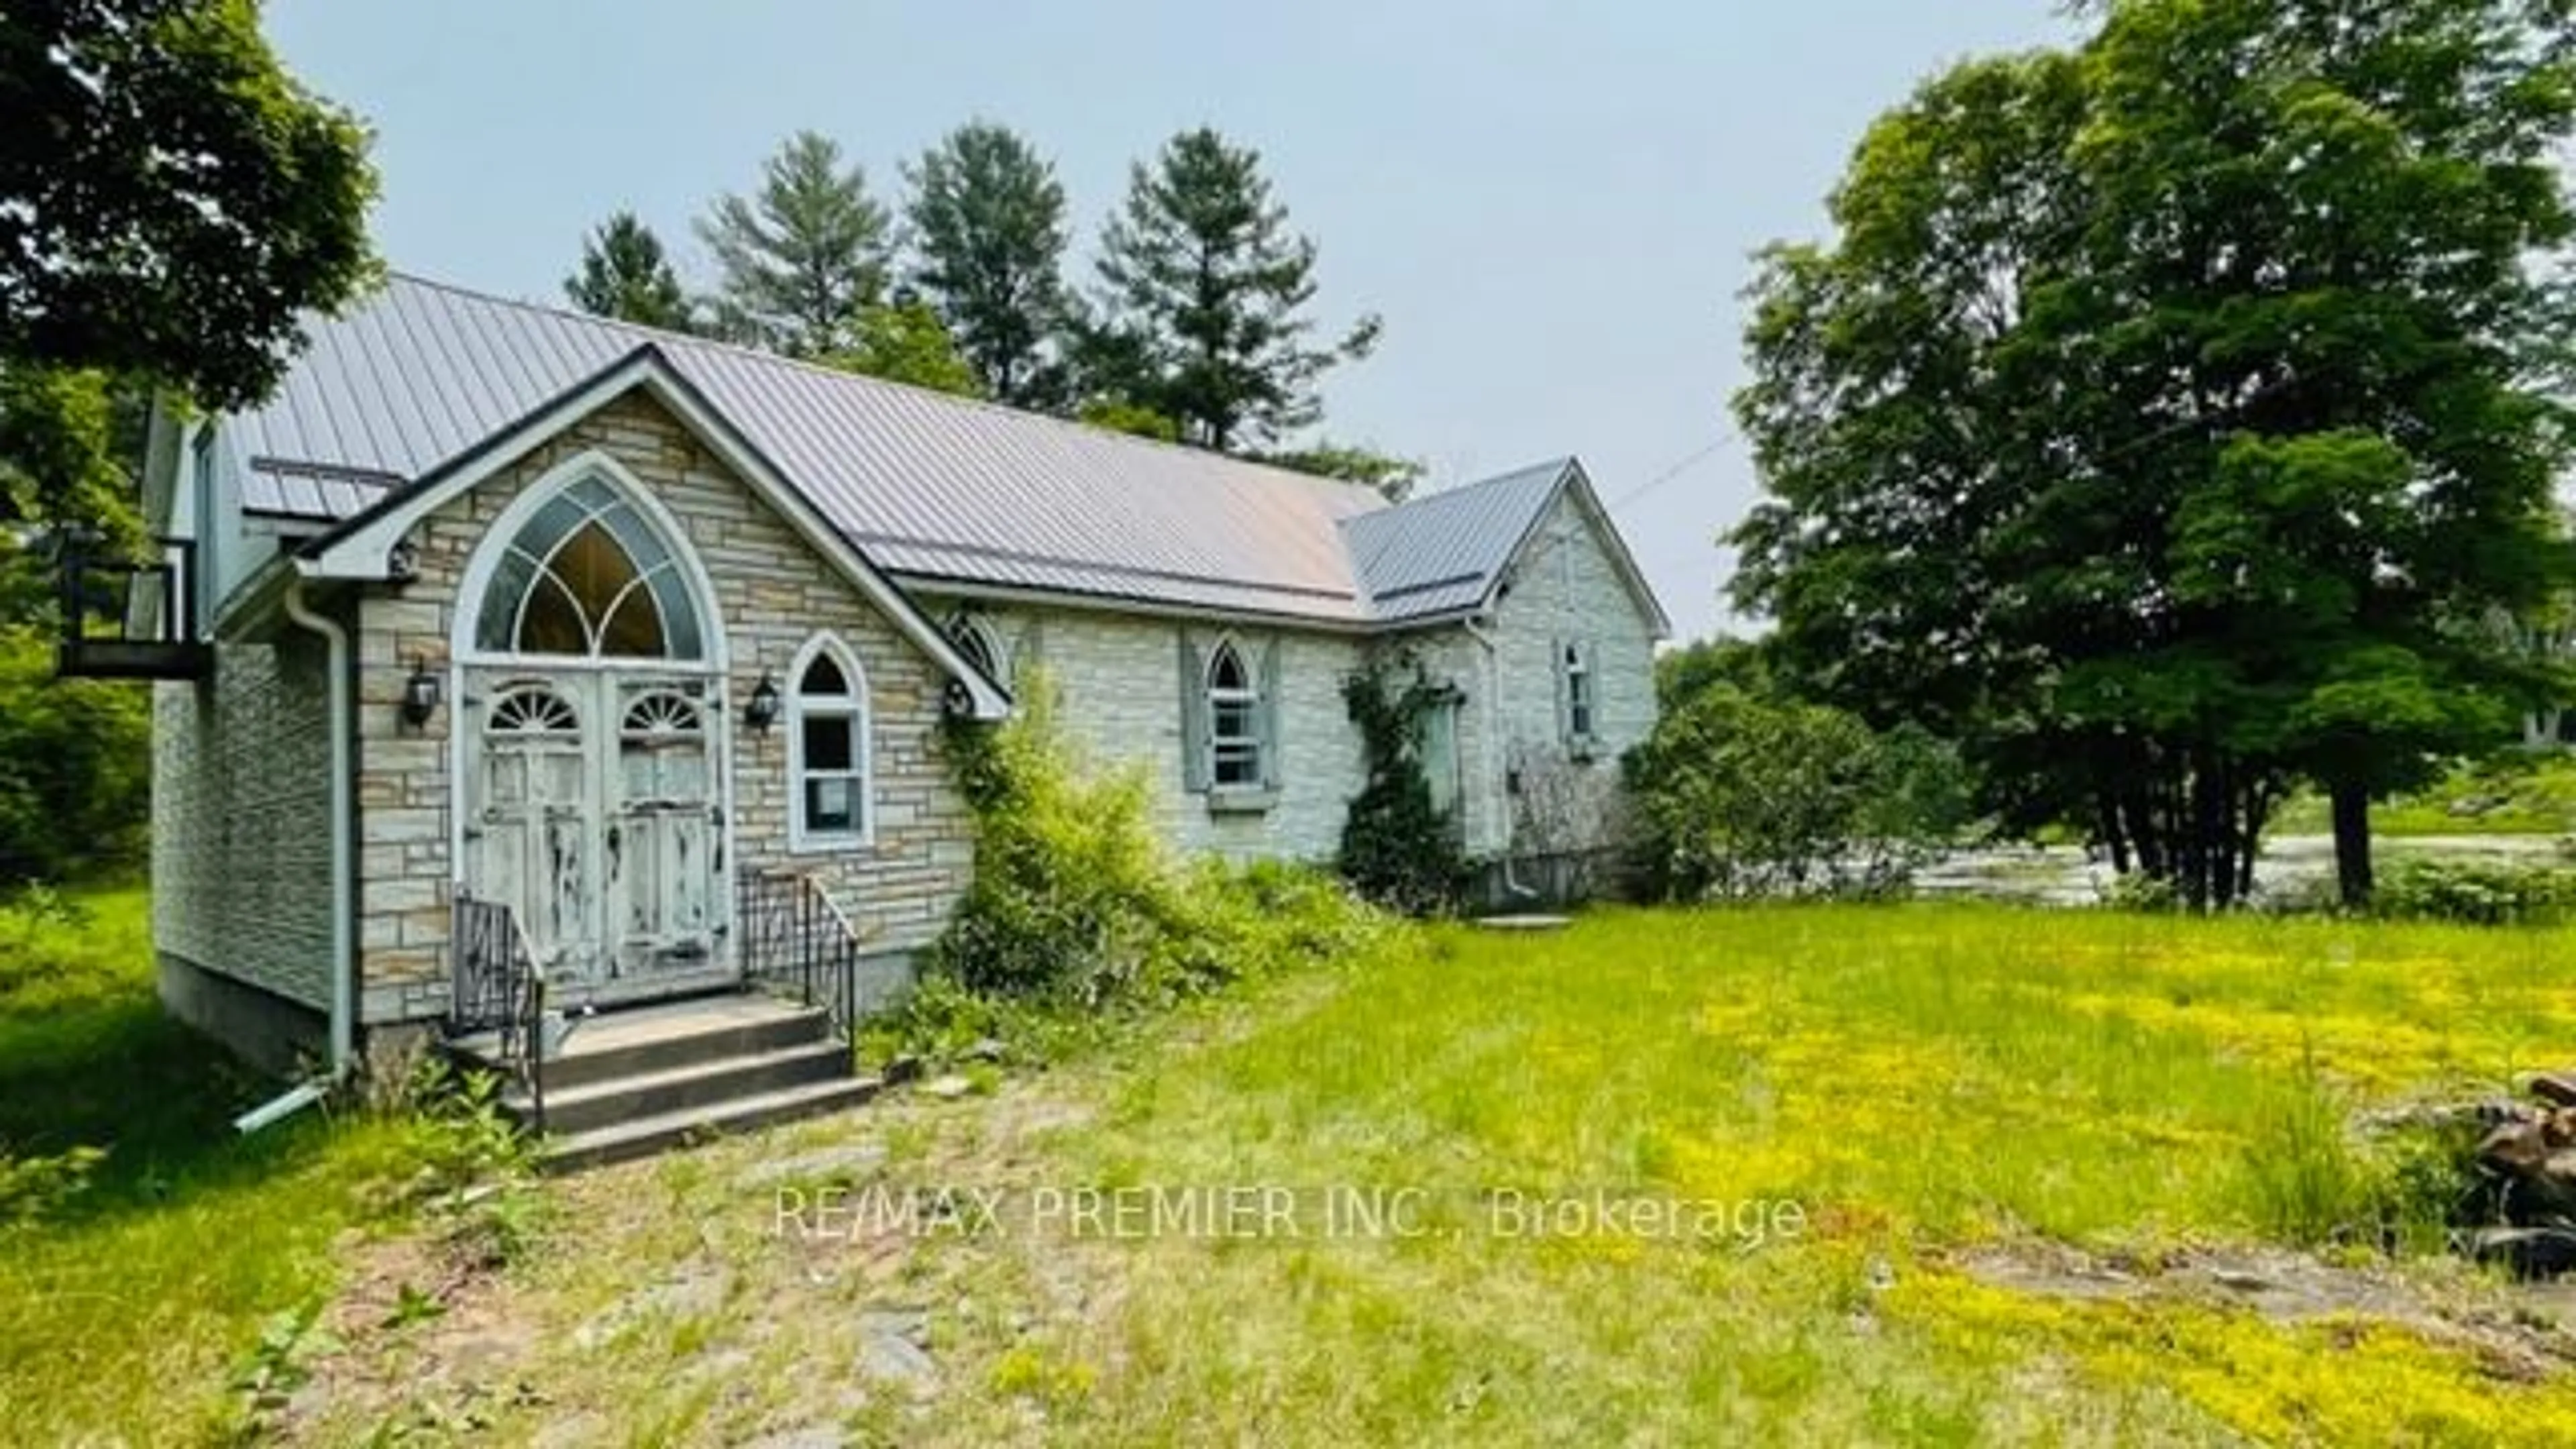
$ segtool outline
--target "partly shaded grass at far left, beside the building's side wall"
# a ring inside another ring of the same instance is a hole
[[[276,1091],[162,1016],[142,890],[0,910],[0,1158],[106,1152],[33,1222],[0,1199],[0,1439],[237,1428],[234,1361],[270,1315],[327,1302],[337,1235],[386,1222],[422,1147],[397,1119],[234,1137]]]

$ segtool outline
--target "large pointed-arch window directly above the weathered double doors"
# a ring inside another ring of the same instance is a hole
[[[489,655],[706,657],[677,554],[598,477],[549,498],[510,539],[484,585],[474,647]]]

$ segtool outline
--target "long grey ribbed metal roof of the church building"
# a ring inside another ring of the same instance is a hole
[[[224,431],[255,513],[345,521],[641,343],[876,567],[1334,624],[1481,601],[1566,462],[1373,490],[394,273]]]

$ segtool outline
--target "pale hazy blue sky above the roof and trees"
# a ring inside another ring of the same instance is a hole
[[[1074,276],[1131,160],[1182,126],[1260,147],[1324,250],[1319,317],[1386,317],[1329,433],[1435,485],[1579,454],[1682,637],[1723,621],[1716,534],[1754,498],[1726,394],[1749,253],[1811,237],[1852,142],[1919,77],[2061,34],[2050,0],[1628,5],[1092,0],[683,5],[273,0],[286,64],[376,129],[404,268],[562,299],[629,206],[680,253],[799,126],[899,193],[969,116],[1054,155]]]

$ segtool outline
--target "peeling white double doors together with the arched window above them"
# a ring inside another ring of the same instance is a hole
[[[719,985],[726,712],[685,544],[582,472],[484,549],[459,639],[464,887],[513,908],[559,998]]]

